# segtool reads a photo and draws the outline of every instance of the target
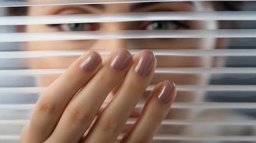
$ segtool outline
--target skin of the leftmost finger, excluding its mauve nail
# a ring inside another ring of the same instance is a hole
[[[80,68],[80,62],[89,53],[79,57],[42,93],[30,122],[22,130],[21,143],[42,143],[52,134],[67,104],[101,67],[102,62],[91,72]]]

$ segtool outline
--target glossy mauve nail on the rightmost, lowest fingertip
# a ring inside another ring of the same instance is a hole
[[[164,81],[158,93],[158,100],[162,104],[167,104],[170,101],[171,97],[173,96],[174,91],[175,84],[168,80]]]

